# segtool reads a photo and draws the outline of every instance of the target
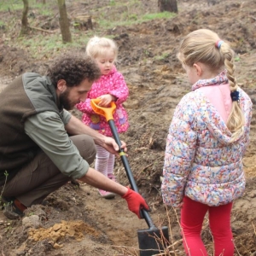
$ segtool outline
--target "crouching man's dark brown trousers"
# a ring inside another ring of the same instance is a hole
[[[70,139],[79,149],[84,160],[91,164],[96,157],[96,147],[92,138],[87,135],[77,135]],[[47,154],[40,150],[30,163],[23,166],[20,172],[6,183],[3,197],[15,197],[26,207],[31,207],[42,203],[47,195],[71,179],[72,177],[63,175]]]

